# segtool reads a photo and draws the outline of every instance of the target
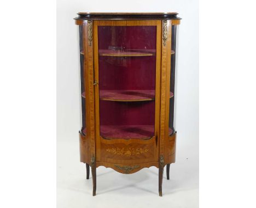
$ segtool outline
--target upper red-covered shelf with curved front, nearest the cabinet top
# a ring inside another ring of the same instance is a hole
[[[174,54],[175,51],[171,51],[171,54]],[[80,54],[84,55],[84,51],[80,51]],[[130,50],[130,51],[113,51],[113,50],[99,50],[98,54],[100,56],[154,56],[155,50],[154,49],[137,49],[137,50]]]

